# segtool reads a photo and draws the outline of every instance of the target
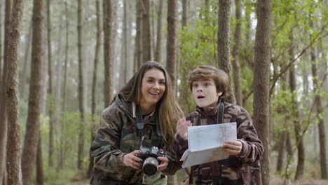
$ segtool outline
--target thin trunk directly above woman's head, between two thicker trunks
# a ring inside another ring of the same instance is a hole
[[[161,50],[162,50],[162,20],[163,20],[163,4],[164,0],[160,0],[158,6],[158,20],[157,20],[157,41],[156,41],[156,53],[155,53],[155,61],[161,62]]]

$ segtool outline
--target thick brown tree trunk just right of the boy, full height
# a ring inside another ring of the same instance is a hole
[[[262,183],[269,184],[269,90],[270,90],[270,34],[271,0],[257,1],[257,32],[254,48],[254,126],[264,146],[261,158]]]

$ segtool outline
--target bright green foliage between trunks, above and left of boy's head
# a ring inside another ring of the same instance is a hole
[[[187,27],[179,33],[179,102],[186,114],[196,107],[187,83],[189,71],[202,64],[217,66],[217,6],[201,6],[198,16],[200,19],[195,21],[195,27]]]

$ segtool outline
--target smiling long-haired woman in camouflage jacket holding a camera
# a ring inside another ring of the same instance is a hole
[[[95,161],[90,184],[142,184],[141,144],[164,150],[152,177],[165,181],[160,172],[174,174],[179,168],[165,149],[171,148],[166,144],[172,143],[175,123],[183,116],[170,92],[168,72],[157,62],[146,62],[102,113],[101,127],[90,146]]]

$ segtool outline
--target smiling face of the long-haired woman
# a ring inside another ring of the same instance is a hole
[[[165,76],[159,69],[149,69],[142,78],[140,104],[155,106],[165,92]]]

